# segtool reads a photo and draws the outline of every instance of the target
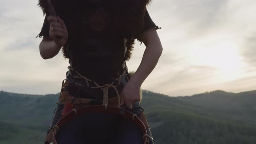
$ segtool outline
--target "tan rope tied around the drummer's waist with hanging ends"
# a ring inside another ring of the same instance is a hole
[[[126,65],[125,65],[125,66],[126,66]],[[72,72],[70,72],[70,75],[71,75],[73,78],[84,79],[85,82],[86,82],[86,84],[87,84],[87,86],[90,87],[90,86],[89,86],[89,82],[93,82],[91,79],[87,79],[87,77],[81,75],[79,72],[77,72],[77,71],[76,71],[75,69],[73,69],[71,66],[69,66],[68,69],[71,70],[71,71],[74,71],[76,74],[79,75],[79,76],[73,76],[73,75],[72,75]],[[127,67],[126,67],[126,69],[127,69]],[[109,89],[109,88],[113,88],[113,89],[115,90],[115,93],[116,93],[116,95],[117,95],[117,97],[118,97],[118,107],[120,107],[120,97],[119,97],[118,90],[117,90],[117,87],[118,87],[118,86],[114,85],[114,82],[115,82],[115,81],[118,81],[118,85],[120,85],[120,83],[121,83],[121,78],[122,78],[123,76],[126,76],[126,75],[128,75],[128,74],[126,73],[126,70],[125,70],[125,71],[124,71],[121,75],[119,75],[119,77],[118,77],[117,79],[115,79],[111,84],[98,85],[96,82],[93,82],[94,85],[96,85],[96,86],[95,86],[95,87],[90,87],[90,88],[101,88],[102,91],[103,91],[103,105],[105,106],[105,109],[107,109],[107,107],[108,107],[108,89]]]

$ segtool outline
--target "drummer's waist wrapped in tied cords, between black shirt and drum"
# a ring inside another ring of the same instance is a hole
[[[124,70],[121,75],[95,82],[69,67],[69,71],[66,74],[66,80],[69,85],[64,89],[74,97],[102,99],[104,89],[108,88],[108,96],[113,98],[121,94],[128,79],[128,72]]]

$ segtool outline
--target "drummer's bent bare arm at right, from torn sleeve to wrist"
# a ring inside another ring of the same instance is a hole
[[[141,40],[145,44],[146,49],[137,71],[130,79],[138,85],[142,85],[144,80],[153,71],[163,51],[158,33],[154,28],[146,30],[141,35]]]

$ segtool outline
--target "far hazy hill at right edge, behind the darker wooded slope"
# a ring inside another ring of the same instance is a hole
[[[242,124],[256,125],[256,91],[229,93],[213,91],[187,97],[177,97],[205,111],[219,113],[225,119],[239,120]]]

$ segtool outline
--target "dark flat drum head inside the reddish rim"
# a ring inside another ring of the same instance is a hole
[[[143,144],[138,124],[118,113],[80,112],[65,117],[59,121],[65,122],[56,134],[57,144]]]

